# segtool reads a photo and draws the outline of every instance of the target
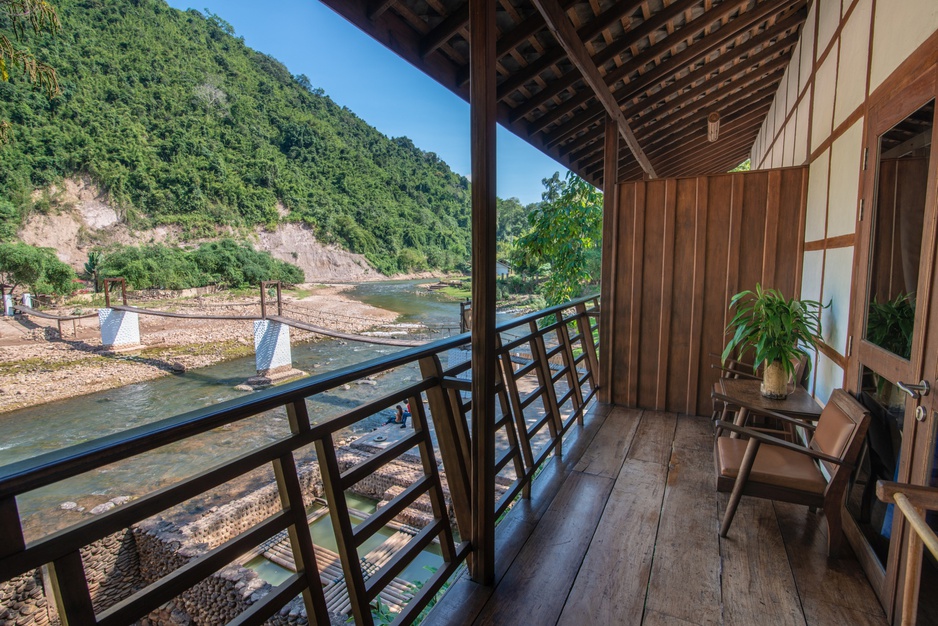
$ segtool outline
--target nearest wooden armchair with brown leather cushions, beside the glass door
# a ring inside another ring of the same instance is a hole
[[[844,495],[869,426],[869,411],[843,389],[837,389],[824,407],[817,426],[780,413],[758,412],[813,434],[808,445],[801,446],[745,426],[722,420],[716,422],[717,490],[731,494],[720,536],[726,537],[729,532],[736,507],[744,495],[794,502],[812,510],[815,507],[824,510],[828,555],[836,556],[843,539]],[[749,439],[723,437],[723,431],[739,433]],[[825,478],[822,466],[830,480]]]

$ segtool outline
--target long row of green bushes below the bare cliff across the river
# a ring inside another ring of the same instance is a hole
[[[187,289],[222,285],[255,287],[262,280],[301,283],[303,270],[233,239],[204,243],[195,250],[151,244],[124,246],[100,262],[101,278],[124,277],[133,289]]]

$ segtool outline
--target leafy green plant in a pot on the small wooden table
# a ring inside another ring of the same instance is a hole
[[[788,396],[795,363],[821,340],[821,306],[815,300],[786,299],[776,289],[743,291],[730,300],[736,315],[726,327],[732,335],[723,351],[724,363],[735,350],[742,357],[752,349],[753,369],[763,369],[762,395]]]

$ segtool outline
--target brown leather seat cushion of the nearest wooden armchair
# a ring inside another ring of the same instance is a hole
[[[749,441],[745,439],[717,439],[717,465],[721,476],[736,479],[747,445]],[[827,488],[827,482],[811,457],[765,443],[756,453],[749,481],[816,494],[823,494]]]

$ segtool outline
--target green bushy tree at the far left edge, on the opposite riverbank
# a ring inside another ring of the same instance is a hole
[[[0,282],[33,293],[65,295],[74,291],[75,272],[59,261],[52,248],[0,243]]]

